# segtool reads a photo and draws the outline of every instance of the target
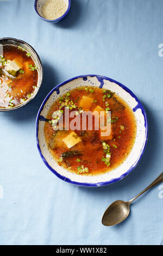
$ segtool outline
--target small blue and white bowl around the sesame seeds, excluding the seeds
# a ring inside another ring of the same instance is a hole
[[[66,3],[66,7],[67,7],[64,15],[62,15],[61,17],[59,17],[58,19],[55,19],[55,20],[48,20],[42,16],[42,6],[43,6],[43,4],[46,3],[46,1],[47,0],[35,0],[35,5],[34,5],[35,11],[36,11],[36,14],[39,15],[39,17],[42,20],[53,22],[53,23],[57,23],[57,22],[61,21],[62,19],[64,19],[66,17],[66,15],[68,14],[68,11],[70,10],[70,7],[71,7],[71,0],[63,0]]]

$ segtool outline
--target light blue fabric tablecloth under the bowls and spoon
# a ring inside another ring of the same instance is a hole
[[[27,41],[44,71],[32,102],[0,113],[1,245],[163,245],[160,186],[135,201],[128,220],[115,227],[101,224],[110,203],[134,197],[163,169],[162,16],[161,0],[72,0],[66,19],[51,24],[36,15],[34,0],[0,1],[0,36]],[[129,87],[149,119],[141,162],[108,187],[77,187],[58,179],[36,148],[41,102],[57,84],[85,74],[105,75]]]

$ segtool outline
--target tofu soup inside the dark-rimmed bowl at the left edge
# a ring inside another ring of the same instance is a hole
[[[3,45],[0,56],[0,108],[12,108],[28,100],[37,88],[35,62],[21,46]]]

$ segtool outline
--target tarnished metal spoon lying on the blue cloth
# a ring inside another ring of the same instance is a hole
[[[112,203],[104,212],[104,215],[102,217],[102,224],[106,226],[116,225],[122,221],[124,221],[130,212],[130,204],[133,203],[133,201],[141,196],[141,194],[145,193],[146,191],[150,190],[150,188],[160,184],[163,182],[163,172],[156,178],[151,185],[149,185],[145,190],[143,190],[141,193],[139,193],[136,197],[131,199],[130,201],[122,201],[117,200],[114,203]]]

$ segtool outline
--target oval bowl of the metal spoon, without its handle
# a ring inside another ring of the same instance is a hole
[[[104,212],[102,224],[111,226],[124,221],[130,212],[130,203],[117,200],[112,203]]]

